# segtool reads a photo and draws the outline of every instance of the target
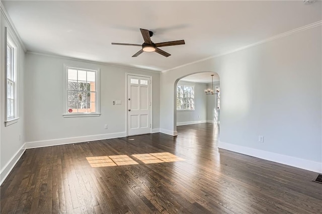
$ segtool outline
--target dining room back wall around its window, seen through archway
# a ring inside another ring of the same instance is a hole
[[[198,82],[179,81],[181,85],[194,86],[195,92],[195,110],[194,111],[177,111],[177,126],[206,123],[207,120],[207,99],[203,90],[206,84]]]

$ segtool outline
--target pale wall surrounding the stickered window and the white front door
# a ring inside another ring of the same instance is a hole
[[[64,63],[100,68],[100,117],[62,117]],[[27,53],[25,75],[27,148],[125,136],[126,73],[152,76],[152,128],[158,130],[159,73]],[[113,105],[113,100],[121,100],[122,104]],[[108,125],[108,129],[104,129],[105,124]]]

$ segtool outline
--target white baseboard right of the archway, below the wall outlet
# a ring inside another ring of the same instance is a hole
[[[259,150],[259,149],[253,149],[253,148],[244,147],[244,146],[238,146],[235,144],[230,144],[230,143],[225,143],[220,141],[218,144],[218,148],[229,150],[232,152],[237,152],[244,155],[249,155],[252,157],[261,158],[264,160],[273,161],[276,163],[294,166],[300,169],[322,173],[322,163],[311,161],[311,160],[305,160],[301,158],[277,154],[277,153],[268,152],[268,151]]]

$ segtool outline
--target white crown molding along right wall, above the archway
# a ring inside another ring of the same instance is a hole
[[[227,55],[227,54],[231,54],[231,53],[234,53],[234,52],[237,52],[237,51],[241,51],[241,50],[244,50],[244,49],[247,49],[247,48],[251,48],[251,47],[254,47],[254,46],[257,46],[257,45],[266,43],[266,42],[270,42],[272,40],[276,40],[276,39],[279,39],[279,38],[282,38],[282,37],[286,37],[286,36],[289,36],[289,35],[292,35],[292,34],[295,34],[295,33],[298,33],[298,32],[306,31],[308,29],[315,28],[315,27],[318,27],[320,25],[322,25],[322,20],[317,21],[317,22],[313,22],[313,23],[311,23],[309,25],[304,25],[302,27],[299,27],[299,28],[296,28],[296,29],[293,29],[293,30],[290,30],[290,31],[287,31],[287,32],[284,32],[284,33],[281,33],[281,34],[278,34],[276,36],[269,37],[267,39],[261,40],[259,42],[253,43],[251,45],[247,45],[247,46],[244,46],[244,47],[241,47],[241,48],[237,48],[237,49],[234,49],[234,50],[225,52],[225,53],[221,53],[221,54],[209,56],[209,57],[206,57],[206,58],[203,58],[203,59],[199,59],[199,60],[196,60],[196,61],[193,61],[193,62],[189,62],[189,63],[183,64],[183,65],[179,65],[179,66],[174,67],[174,68],[170,68],[170,69],[167,69],[167,70],[163,70],[161,72],[162,73],[165,73],[165,72],[168,72],[168,71],[171,71],[171,70],[175,70],[175,69],[178,69],[178,68],[182,68],[182,67],[185,67],[185,66],[188,66],[188,65],[192,65],[192,64],[195,64],[195,63],[198,63],[198,62],[202,62],[202,61],[205,61],[205,60],[208,60],[208,59],[212,59],[212,58],[224,56],[224,55]]]

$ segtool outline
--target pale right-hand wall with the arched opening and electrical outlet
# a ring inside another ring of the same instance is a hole
[[[200,71],[217,72],[222,148],[252,150],[253,156],[322,172],[321,50],[318,26],[164,72],[160,130],[176,134],[177,79]],[[258,142],[259,135],[264,143]]]

